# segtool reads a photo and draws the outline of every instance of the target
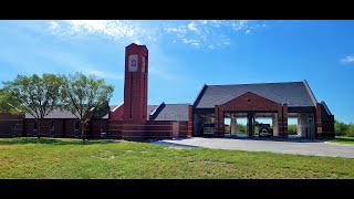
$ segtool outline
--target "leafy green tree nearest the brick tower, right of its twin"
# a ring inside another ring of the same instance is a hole
[[[94,75],[82,73],[64,76],[62,90],[63,109],[76,116],[81,124],[81,137],[85,140],[85,127],[95,113],[106,108],[114,87]]]

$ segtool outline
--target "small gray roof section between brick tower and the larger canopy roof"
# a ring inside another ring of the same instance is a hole
[[[154,114],[154,121],[188,121],[188,105],[165,104],[159,112]]]

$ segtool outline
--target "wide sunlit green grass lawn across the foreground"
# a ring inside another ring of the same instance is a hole
[[[354,159],[124,140],[0,139],[0,178],[354,178]]]

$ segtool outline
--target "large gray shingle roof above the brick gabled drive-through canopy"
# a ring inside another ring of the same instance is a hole
[[[200,100],[197,100],[194,106],[214,108],[215,105],[225,104],[247,92],[280,104],[287,102],[289,106],[314,106],[303,82],[207,85],[206,91],[199,94]]]

